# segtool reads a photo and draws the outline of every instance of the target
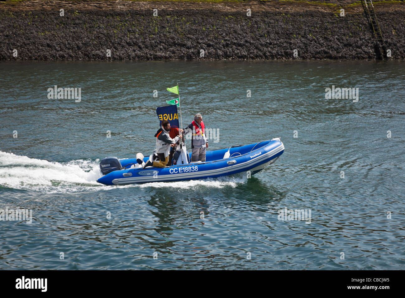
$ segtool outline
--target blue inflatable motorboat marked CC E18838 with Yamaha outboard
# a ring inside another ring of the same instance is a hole
[[[133,184],[145,182],[166,182],[179,180],[198,180],[216,178],[247,172],[256,174],[283,154],[284,145],[279,138],[245,146],[210,150],[206,161],[190,162],[191,154],[185,151],[185,157],[177,165],[168,167],[146,167],[142,169],[134,159],[108,157],[100,162],[104,176],[97,182],[105,185]],[[142,155],[143,157],[143,155]],[[145,163],[151,157],[143,157]]]

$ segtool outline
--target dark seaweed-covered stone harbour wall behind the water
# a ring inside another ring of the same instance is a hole
[[[375,11],[382,51],[404,59],[405,4]],[[359,1],[0,3],[1,60],[373,59],[378,48]]]

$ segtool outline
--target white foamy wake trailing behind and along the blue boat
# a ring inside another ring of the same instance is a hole
[[[47,193],[100,191],[128,187],[196,189],[201,187],[236,187],[247,180],[245,176],[239,175],[216,179],[103,186],[96,182],[102,176],[99,162],[98,159],[79,159],[67,163],[58,163],[0,151],[0,188],[46,191]]]

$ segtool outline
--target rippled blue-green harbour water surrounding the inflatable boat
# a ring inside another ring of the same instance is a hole
[[[404,62],[0,66],[0,209],[33,210],[0,221],[1,269],[404,268]],[[200,112],[219,129],[210,148],[281,137],[281,160],[251,179],[98,184],[100,159],[151,152],[177,82],[183,126]],[[54,85],[81,102],[47,99]],[[359,101],[325,99],[332,85]]]

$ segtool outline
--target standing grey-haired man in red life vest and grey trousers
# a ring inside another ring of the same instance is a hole
[[[184,135],[190,132],[193,133],[191,139],[191,161],[205,162],[205,150],[208,148],[208,142],[205,137],[205,125],[201,114],[196,114],[194,121],[184,129]]]

